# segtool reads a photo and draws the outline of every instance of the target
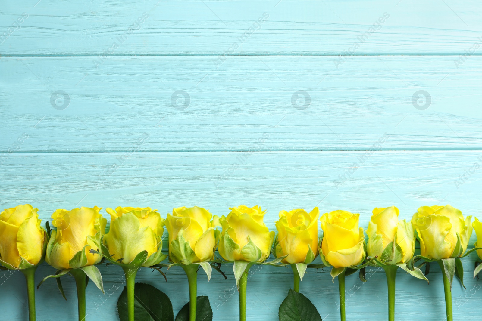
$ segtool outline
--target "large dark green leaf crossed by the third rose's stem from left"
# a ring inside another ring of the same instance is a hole
[[[117,310],[120,321],[128,321],[127,288],[119,296]],[[135,321],[174,321],[174,312],[169,297],[157,288],[146,283],[134,285]]]

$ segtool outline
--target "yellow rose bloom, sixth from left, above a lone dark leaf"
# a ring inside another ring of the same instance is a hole
[[[304,209],[281,211],[275,222],[278,236],[275,242],[276,257],[288,264],[311,263],[318,255],[318,207],[307,213]]]

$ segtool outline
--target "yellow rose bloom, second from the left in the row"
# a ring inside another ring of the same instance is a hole
[[[92,254],[100,249],[100,239],[106,230],[107,219],[95,206],[74,208],[70,211],[57,209],[52,214],[52,231],[45,261],[56,269],[79,269],[100,262],[101,256]]]

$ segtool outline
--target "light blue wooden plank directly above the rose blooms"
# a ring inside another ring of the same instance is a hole
[[[163,216],[261,205],[272,230],[282,209],[314,206],[361,213],[362,227],[374,207],[390,205],[407,219],[440,204],[482,219],[481,165],[480,151],[12,154],[0,166],[0,206],[31,202],[45,220],[81,205],[151,206]]]

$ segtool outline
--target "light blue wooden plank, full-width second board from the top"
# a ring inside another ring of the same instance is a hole
[[[212,59],[4,57],[0,151],[482,147],[481,57]]]

